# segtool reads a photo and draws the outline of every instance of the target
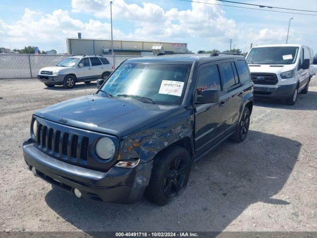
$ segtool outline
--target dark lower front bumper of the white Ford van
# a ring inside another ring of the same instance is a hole
[[[274,86],[264,86],[255,84],[254,97],[285,99],[293,95],[296,87],[296,83]]]

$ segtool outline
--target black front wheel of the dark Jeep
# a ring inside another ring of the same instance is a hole
[[[146,195],[151,202],[165,205],[185,189],[192,166],[188,151],[181,146],[171,146],[158,155]]]

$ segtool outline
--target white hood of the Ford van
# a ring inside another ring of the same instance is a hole
[[[249,68],[251,73],[275,73],[280,74],[296,68],[297,64],[257,64],[250,63]]]

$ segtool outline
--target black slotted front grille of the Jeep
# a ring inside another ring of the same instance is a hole
[[[59,159],[71,162],[87,161],[89,138],[61,132],[38,122],[37,146]]]

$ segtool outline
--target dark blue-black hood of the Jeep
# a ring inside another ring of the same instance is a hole
[[[104,132],[118,137],[164,119],[183,106],[147,104],[135,99],[89,95],[41,109],[36,116],[78,128]],[[63,119],[63,120],[62,120]]]

